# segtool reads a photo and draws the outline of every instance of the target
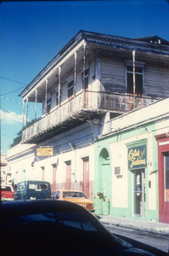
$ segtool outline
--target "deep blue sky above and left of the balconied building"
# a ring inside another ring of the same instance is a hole
[[[79,30],[169,41],[166,0],[18,2],[0,4],[1,151],[22,129],[18,95]],[[33,118],[33,108],[29,118]]]

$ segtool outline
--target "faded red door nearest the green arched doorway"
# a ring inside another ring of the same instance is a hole
[[[89,197],[89,157],[83,160],[83,192]]]

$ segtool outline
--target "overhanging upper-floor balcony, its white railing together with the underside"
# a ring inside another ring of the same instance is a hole
[[[128,113],[155,102],[149,97],[133,97],[121,94],[86,91],[60,105],[34,125],[26,127],[22,132],[22,143],[42,143],[48,138],[69,131],[90,119],[101,119],[110,112],[110,118],[121,113]]]

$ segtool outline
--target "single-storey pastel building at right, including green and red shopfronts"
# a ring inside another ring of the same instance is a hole
[[[111,215],[169,223],[169,98],[104,126],[95,143],[95,195],[110,199]]]

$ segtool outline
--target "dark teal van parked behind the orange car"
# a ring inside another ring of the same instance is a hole
[[[15,200],[46,199],[51,195],[50,183],[45,181],[23,181],[17,184]]]

